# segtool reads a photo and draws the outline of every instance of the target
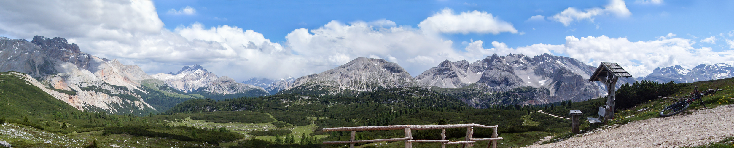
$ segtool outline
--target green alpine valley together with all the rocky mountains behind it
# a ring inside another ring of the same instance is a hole
[[[548,53],[446,60],[415,77],[399,64],[359,57],[300,78],[250,78],[241,83],[198,64],[148,75],[137,65],[81,52],[60,37],[35,36],[30,42],[0,37],[0,59],[0,139],[12,147],[335,148],[347,146],[321,141],[349,137],[322,128],[465,123],[498,125],[501,137],[515,139],[498,146],[522,147],[568,133],[570,120],[539,110],[560,116],[581,110],[589,113],[583,117],[591,117],[606,101],[606,88],[589,81],[594,66]],[[651,95],[640,92],[664,90],[646,98],[650,101],[683,94],[681,88],[691,86],[657,80],[721,79],[731,77],[731,70],[726,64],[659,68],[644,78],[655,81],[619,79],[617,96],[625,106],[642,106],[647,102],[636,98]],[[726,86],[730,81],[697,85]],[[360,131],[355,138],[396,137],[402,132]],[[488,128],[474,132],[476,138],[492,133]],[[437,133],[416,130],[413,136],[437,139]],[[446,138],[460,141],[465,133],[446,129]],[[380,144],[401,147],[402,142]]]

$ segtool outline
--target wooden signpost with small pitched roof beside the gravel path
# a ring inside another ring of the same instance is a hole
[[[614,94],[616,94],[617,92],[617,78],[628,77],[632,77],[632,75],[630,75],[630,73],[627,73],[625,69],[622,69],[619,64],[601,62],[601,64],[599,64],[599,67],[597,67],[597,70],[594,71],[594,74],[592,74],[592,77],[589,78],[589,81],[601,81],[601,83],[606,85],[606,106],[602,106],[603,108],[606,108],[606,115],[604,116],[603,121],[605,125],[608,123],[608,120],[614,117]]]

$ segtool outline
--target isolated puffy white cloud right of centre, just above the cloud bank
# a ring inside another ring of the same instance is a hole
[[[502,21],[494,17],[491,13],[474,10],[455,15],[454,10],[448,8],[421,21],[421,23],[418,23],[418,27],[425,32],[431,33],[517,33],[517,29],[511,23]]]

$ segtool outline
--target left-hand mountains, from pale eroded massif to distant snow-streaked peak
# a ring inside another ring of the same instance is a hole
[[[137,65],[81,52],[61,37],[35,36],[30,42],[0,37],[0,57],[0,72],[24,73],[30,84],[79,110],[143,115],[192,98],[269,95],[198,65],[154,77]]]

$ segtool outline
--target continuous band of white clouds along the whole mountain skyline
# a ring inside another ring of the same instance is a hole
[[[70,10],[64,6],[92,9]],[[286,42],[281,43],[271,42],[263,34],[237,26],[206,27],[202,23],[193,23],[170,31],[163,28],[150,1],[7,1],[0,5],[0,15],[4,16],[0,17],[0,31],[13,38],[29,39],[34,35],[65,37],[80,45],[84,52],[120,59],[126,64],[138,64],[148,73],[167,73],[178,71],[184,65],[201,64],[219,76],[227,75],[239,81],[260,76],[278,78],[320,73],[360,56],[399,63],[413,75],[446,59],[473,61],[494,53],[523,53],[527,56],[551,53],[567,55],[591,65],[617,62],[635,76],[644,76],[656,67],[675,64],[684,67],[701,63],[734,64],[734,51],[694,48],[691,47],[693,40],[674,38],[672,33],[658,40],[636,42],[625,37],[570,36],[561,45],[539,43],[522,47],[490,42],[492,48],[484,48],[482,40],[471,40],[465,43],[465,49],[458,50],[452,46],[454,41],[445,40],[440,34],[435,34],[435,30],[424,30],[440,27],[396,26],[395,22],[388,20],[348,24],[331,21],[317,29],[294,29],[286,35]],[[88,17],[90,15],[99,17]],[[446,18],[485,16],[479,20],[491,18],[498,21],[486,12],[462,12],[458,15],[440,12],[432,16],[436,18],[426,18],[424,24],[438,22],[441,15],[448,16]],[[447,33],[492,33],[482,29],[444,29],[442,32]],[[501,32],[511,31],[505,29]],[[515,30],[512,33],[519,32]],[[734,49],[734,41],[726,41]]]

